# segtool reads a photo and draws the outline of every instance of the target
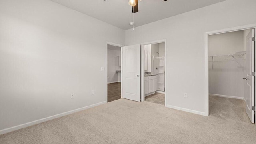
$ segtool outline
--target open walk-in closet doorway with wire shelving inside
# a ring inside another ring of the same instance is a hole
[[[255,123],[255,28],[209,34],[209,115]]]

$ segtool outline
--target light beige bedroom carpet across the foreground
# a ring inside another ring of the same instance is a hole
[[[0,144],[255,144],[254,124],[217,111],[206,117],[119,99],[1,135]]]

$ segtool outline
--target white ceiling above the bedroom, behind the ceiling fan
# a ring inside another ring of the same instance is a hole
[[[68,8],[82,12],[124,30],[132,28],[129,0],[52,0]],[[225,0],[142,0],[138,1],[139,12],[134,13],[134,26],[141,26],[216,4]]]

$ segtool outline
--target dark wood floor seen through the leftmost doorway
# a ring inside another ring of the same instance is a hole
[[[121,98],[121,82],[108,84],[108,102]]]

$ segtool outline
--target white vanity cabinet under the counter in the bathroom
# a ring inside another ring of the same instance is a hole
[[[156,76],[145,76],[144,90],[145,95],[156,92]]]

